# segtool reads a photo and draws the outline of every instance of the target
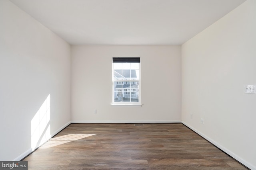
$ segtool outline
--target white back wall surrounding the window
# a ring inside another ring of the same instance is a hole
[[[180,121],[180,52],[168,45],[72,45],[72,122]],[[110,105],[112,57],[140,57],[142,107]]]

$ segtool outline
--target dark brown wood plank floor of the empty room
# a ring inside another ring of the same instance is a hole
[[[24,160],[31,170],[247,169],[181,123],[71,124]]]

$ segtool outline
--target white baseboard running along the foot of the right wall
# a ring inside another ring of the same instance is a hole
[[[185,123],[184,121],[181,121],[181,123],[183,123],[184,125],[186,125],[187,127],[189,127],[191,130],[193,130],[194,132],[196,132],[198,135],[200,135],[201,137],[203,137],[204,139],[206,139],[207,141],[209,141],[210,143],[212,143],[213,145],[215,145],[216,147],[218,147],[219,149],[221,149],[222,151],[226,152],[226,154],[232,156],[234,159],[236,159],[238,162],[240,162],[241,164],[243,164],[244,166],[246,166],[247,168],[250,168],[251,170],[256,170],[256,167],[253,166],[252,164],[250,164],[249,162],[246,162],[244,159],[240,158],[238,155],[234,154],[232,151],[226,149],[225,147],[223,147],[222,145],[220,145],[219,143],[217,143],[216,141],[212,140],[210,137],[204,135],[203,133],[201,133],[200,131],[194,129],[192,126],[188,125],[187,123]]]

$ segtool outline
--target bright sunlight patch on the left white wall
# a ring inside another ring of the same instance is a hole
[[[31,148],[36,149],[50,139],[50,94],[31,120]]]

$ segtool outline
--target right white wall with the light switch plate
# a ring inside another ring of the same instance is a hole
[[[251,169],[256,95],[244,85],[256,85],[255,30],[248,0],[182,45],[182,121]]]

